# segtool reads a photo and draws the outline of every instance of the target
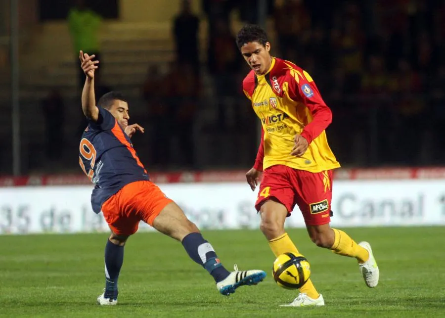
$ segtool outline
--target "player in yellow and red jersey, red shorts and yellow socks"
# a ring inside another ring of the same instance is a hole
[[[357,244],[344,231],[329,226],[332,170],[340,167],[325,133],[332,121],[331,110],[305,70],[270,55],[270,43],[261,27],[244,26],[236,43],[252,69],[243,90],[262,123],[257,159],[246,178],[255,190],[263,172],[255,207],[272,252],[275,256],[299,253],[284,230],[286,217],[298,205],[312,241],[356,258],[366,285],[377,286],[379,270],[369,243]],[[323,296],[310,279],[298,297],[283,306],[323,305]]]

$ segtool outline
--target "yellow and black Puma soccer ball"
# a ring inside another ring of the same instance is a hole
[[[311,266],[301,254],[284,253],[273,262],[272,275],[278,286],[286,289],[298,289],[311,276]]]

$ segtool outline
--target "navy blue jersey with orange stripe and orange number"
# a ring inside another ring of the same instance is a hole
[[[79,146],[79,164],[95,184],[91,193],[95,213],[124,185],[149,180],[130,138],[108,110],[98,108],[97,122],[89,121]]]

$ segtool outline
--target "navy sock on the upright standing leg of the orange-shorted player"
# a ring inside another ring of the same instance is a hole
[[[119,246],[107,240],[105,245],[105,293],[117,296],[117,282],[122,263],[124,263],[124,246]]]

